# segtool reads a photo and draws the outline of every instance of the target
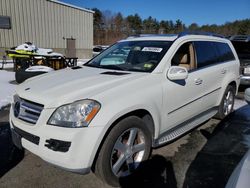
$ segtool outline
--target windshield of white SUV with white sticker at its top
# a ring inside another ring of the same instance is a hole
[[[99,54],[85,66],[152,72],[159,64],[172,42],[170,41],[125,41],[119,42]]]

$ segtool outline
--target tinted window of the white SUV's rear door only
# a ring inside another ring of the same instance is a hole
[[[218,62],[216,48],[212,42],[196,41],[194,42],[197,68],[206,67]]]

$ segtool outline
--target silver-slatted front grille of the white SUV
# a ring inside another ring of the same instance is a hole
[[[42,110],[43,105],[19,98],[14,104],[14,115],[23,121],[36,124]]]

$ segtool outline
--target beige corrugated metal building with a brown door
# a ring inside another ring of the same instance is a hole
[[[0,0],[0,59],[6,49],[24,42],[90,58],[93,13],[56,0]]]

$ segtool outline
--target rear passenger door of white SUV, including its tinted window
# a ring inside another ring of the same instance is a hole
[[[197,72],[201,80],[202,91],[201,105],[204,110],[208,110],[217,105],[221,93],[223,78],[227,74],[226,66],[221,64],[216,42],[195,41],[194,42]]]

